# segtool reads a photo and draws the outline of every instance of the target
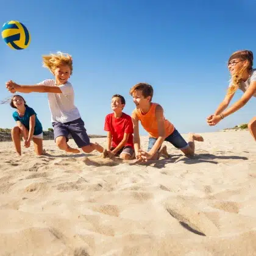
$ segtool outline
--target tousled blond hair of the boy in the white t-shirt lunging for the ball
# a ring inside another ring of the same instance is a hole
[[[52,74],[56,68],[60,66],[68,65],[70,68],[70,74],[73,73],[73,59],[71,55],[63,52],[57,52],[57,54],[43,55],[43,66],[48,68]]]

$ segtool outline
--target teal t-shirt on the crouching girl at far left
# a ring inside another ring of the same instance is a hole
[[[26,107],[25,113],[23,117],[20,117],[18,112],[13,112],[12,116],[15,119],[15,121],[20,121],[26,128],[29,130],[29,119],[30,116],[35,115],[35,130],[34,135],[39,135],[43,132],[43,127],[40,123],[40,121],[37,118],[37,113],[35,113],[33,108]]]

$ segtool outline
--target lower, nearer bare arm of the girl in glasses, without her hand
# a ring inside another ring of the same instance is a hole
[[[222,115],[224,117],[231,115],[232,113],[236,112],[240,108],[242,108],[246,103],[249,101],[249,99],[254,96],[256,93],[256,81],[251,82],[249,87],[247,88],[246,92],[243,94],[241,99],[236,101],[230,108],[228,108],[226,111],[222,112]]]

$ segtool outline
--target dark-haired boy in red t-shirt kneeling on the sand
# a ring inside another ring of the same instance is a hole
[[[123,96],[112,96],[113,113],[105,117],[104,130],[107,131],[107,151],[119,155],[124,160],[134,158],[132,118],[123,113],[126,100]]]

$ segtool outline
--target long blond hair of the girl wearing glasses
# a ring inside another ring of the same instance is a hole
[[[254,54],[252,51],[248,50],[236,51],[233,52],[233,54],[229,57],[229,62],[233,59],[241,59],[243,61],[247,60],[247,65],[243,66],[235,74],[232,75],[232,85],[227,90],[229,94],[235,93],[235,91],[240,87],[244,71],[247,70],[251,72],[252,65],[254,64]]]

